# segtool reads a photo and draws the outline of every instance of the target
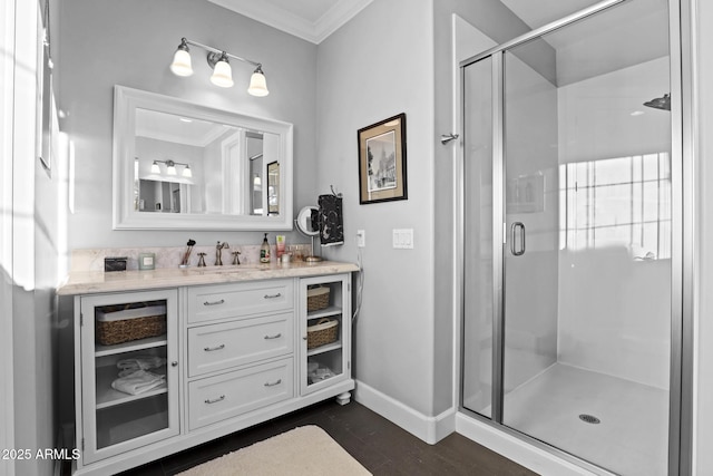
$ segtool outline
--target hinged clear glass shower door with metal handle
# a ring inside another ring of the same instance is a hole
[[[501,55],[502,424],[618,474],[665,475],[671,113],[644,103],[671,90],[666,3]]]

